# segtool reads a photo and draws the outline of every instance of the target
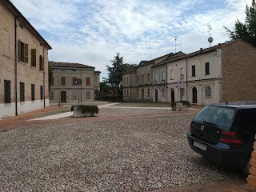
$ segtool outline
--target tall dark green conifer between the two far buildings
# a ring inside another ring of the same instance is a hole
[[[133,69],[135,64],[123,63],[123,57],[119,53],[110,61],[112,66],[106,65],[108,71],[108,78],[104,78],[104,82],[108,83],[112,88],[112,93],[116,99],[122,99],[122,75],[127,71]]]

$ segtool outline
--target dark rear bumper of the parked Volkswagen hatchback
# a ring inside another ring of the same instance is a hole
[[[191,132],[187,134],[187,139],[192,150],[198,154],[201,154],[205,158],[222,164],[223,166],[242,168],[244,162],[246,161],[246,154],[242,150],[229,150],[225,147],[218,147],[220,145],[210,145],[209,143],[203,142],[202,140],[193,137]],[[206,151],[194,146],[194,141],[206,145]]]

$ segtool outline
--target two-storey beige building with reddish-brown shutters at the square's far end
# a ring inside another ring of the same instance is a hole
[[[93,66],[70,62],[49,62],[52,69],[51,103],[94,102],[100,72]]]

